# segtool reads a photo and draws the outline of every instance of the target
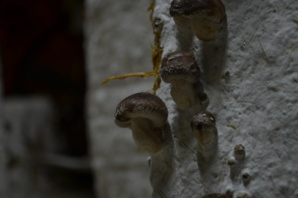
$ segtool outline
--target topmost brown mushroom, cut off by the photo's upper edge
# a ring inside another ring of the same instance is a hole
[[[215,40],[226,20],[220,0],[173,0],[170,15],[180,29],[189,28],[190,21],[193,33],[203,41]]]

